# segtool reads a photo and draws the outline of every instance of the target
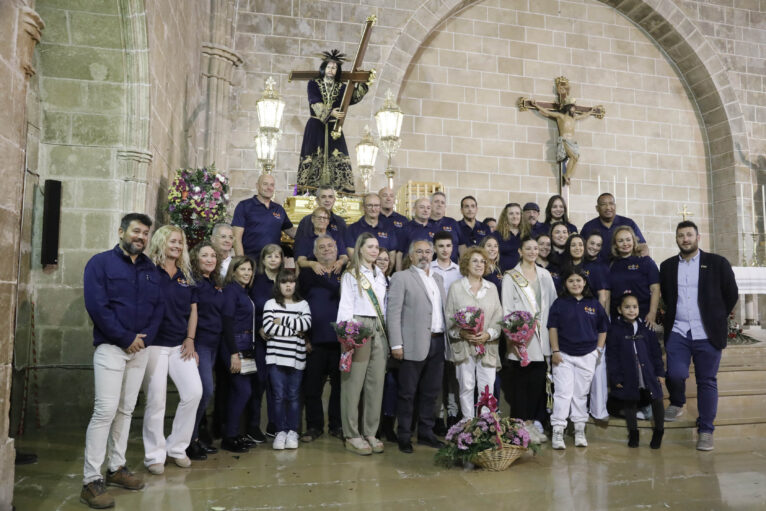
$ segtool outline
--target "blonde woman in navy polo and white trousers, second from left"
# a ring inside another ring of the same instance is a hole
[[[202,382],[197,371],[194,337],[197,332],[197,294],[194,291],[186,235],[175,225],[157,229],[149,244],[149,258],[160,270],[160,288],[165,313],[160,330],[147,348],[144,375],[144,465],[152,474],[165,471],[169,456],[182,468],[191,466],[186,448],[194,432]],[[173,380],[180,402],[173,429],[165,438],[165,400],[168,376]]]

